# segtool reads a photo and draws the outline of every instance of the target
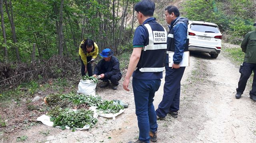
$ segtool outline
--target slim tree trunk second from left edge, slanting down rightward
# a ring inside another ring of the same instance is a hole
[[[16,38],[16,32],[15,32],[15,24],[14,24],[14,19],[13,19],[13,11],[12,11],[12,1],[10,0],[10,10],[11,10],[11,16],[10,16],[10,12],[8,9],[8,3],[7,0],[4,1],[5,2],[5,8],[6,8],[6,13],[8,15],[8,18],[10,20],[10,24],[11,24],[11,29],[12,29],[12,41],[14,44],[17,43],[17,38]],[[20,54],[19,54],[19,50],[18,47],[15,45],[15,51],[16,51],[16,57],[17,60],[20,62]]]

